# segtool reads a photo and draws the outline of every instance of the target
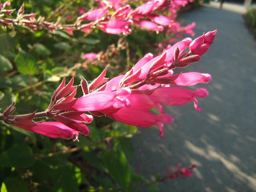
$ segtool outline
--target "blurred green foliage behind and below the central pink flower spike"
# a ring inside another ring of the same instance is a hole
[[[19,9],[22,0],[11,1]],[[72,23],[79,9],[89,10],[91,1],[29,0],[25,13],[38,13],[47,21]],[[14,12],[15,14],[15,12]],[[71,15],[71,16],[70,16]],[[108,77],[126,72],[146,53],[159,53],[172,36],[132,29],[129,36],[106,34],[98,29],[74,36],[63,31],[31,32],[14,26],[0,28],[0,106],[2,112],[16,102],[16,114],[44,111],[60,80],[75,75],[92,81],[109,64]],[[100,53],[98,60],[83,60],[82,53]],[[78,96],[82,92],[78,92]],[[129,165],[133,157],[130,138],[139,131],[101,117],[89,124],[90,135],[80,142],[27,132],[0,122],[1,192],[26,191],[133,191],[139,184],[157,190],[155,184]]]

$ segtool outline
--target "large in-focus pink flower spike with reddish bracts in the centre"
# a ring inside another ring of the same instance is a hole
[[[77,141],[79,133],[85,136],[90,133],[85,123],[92,122],[92,115],[105,115],[139,127],[156,125],[163,137],[164,124],[173,122],[173,117],[164,113],[162,105],[194,102],[196,110],[201,111],[197,98],[208,95],[205,88],[192,91],[173,85],[207,83],[211,80],[211,75],[197,72],[174,74],[173,71],[200,60],[200,56],[213,43],[215,34],[216,30],[207,32],[194,41],[186,38],[156,57],[149,53],[125,75],[119,75],[110,81],[105,78],[106,67],[90,84],[85,79],[81,80],[84,95],[79,98],[75,98],[77,86],[73,86],[74,77],[67,85],[64,78],[53,93],[46,111],[11,115],[16,109],[13,103],[0,115],[0,120],[48,137],[71,139],[75,135]],[[190,50],[183,53],[186,48]],[[151,112],[153,108],[158,109],[157,114]],[[34,119],[39,117],[56,121],[35,122]]]

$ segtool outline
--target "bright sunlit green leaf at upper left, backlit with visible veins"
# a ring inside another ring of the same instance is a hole
[[[15,62],[18,71],[24,75],[34,75],[38,73],[35,58],[22,49],[19,50],[18,55],[15,57]]]

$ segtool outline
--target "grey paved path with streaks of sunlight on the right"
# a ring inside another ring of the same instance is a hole
[[[196,36],[218,29],[201,61],[186,68],[212,75],[201,84],[209,97],[199,101],[201,113],[192,103],[166,107],[175,122],[163,139],[157,128],[141,128],[132,164],[147,177],[179,162],[198,165],[193,177],[160,184],[161,192],[255,192],[256,40],[234,12],[202,7],[183,13],[181,21],[195,21]]]

